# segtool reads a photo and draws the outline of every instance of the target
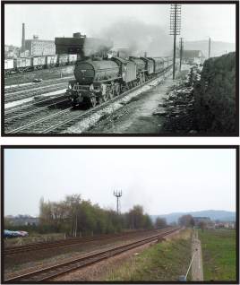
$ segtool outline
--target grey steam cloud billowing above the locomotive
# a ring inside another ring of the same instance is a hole
[[[96,37],[112,41],[114,49],[129,48],[131,56],[143,56],[144,52],[148,56],[170,56],[173,45],[171,37],[159,26],[132,19],[113,22]],[[90,55],[99,50],[99,44],[90,46],[87,42],[84,49]]]

